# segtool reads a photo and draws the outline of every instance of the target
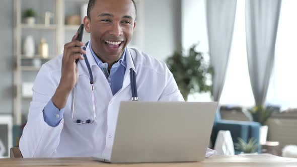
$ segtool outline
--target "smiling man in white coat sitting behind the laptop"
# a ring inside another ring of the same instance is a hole
[[[73,36],[35,79],[20,140],[24,157],[108,159],[121,101],[183,101],[165,63],[127,47],[136,11],[132,0],[89,1],[90,41]]]

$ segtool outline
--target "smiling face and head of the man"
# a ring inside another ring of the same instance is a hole
[[[84,19],[91,33],[92,49],[104,62],[117,61],[131,41],[135,28],[135,8],[131,0],[97,0]]]

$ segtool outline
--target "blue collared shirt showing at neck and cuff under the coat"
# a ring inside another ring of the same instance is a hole
[[[111,69],[110,69],[110,73],[108,72],[108,63],[104,63],[102,62],[99,57],[97,57],[97,55],[95,54],[95,52],[93,51],[92,47],[91,47],[91,41],[88,45],[90,47],[91,53],[97,63],[97,65],[101,68],[102,72],[104,73],[112,95],[114,96],[123,86],[123,80],[124,80],[124,75],[125,75],[125,70],[127,67],[127,63],[126,63],[126,50],[127,48],[125,48],[121,58],[112,65]],[[43,118],[44,121],[52,127],[56,127],[58,126],[58,124],[60,123],[60,121],[63,118],[63,114],[64,114],[64,108],[59,110],[52,102],[52,100],[50,100],[48,102],[48,104],[44,107],[43,109]]]

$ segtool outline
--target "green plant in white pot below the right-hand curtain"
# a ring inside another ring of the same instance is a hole
[[[248,109],[248,112],[251,115],[252,121],[259,122],[261,124],[260,144],[265,144],[268,133],[268,126],[266,125],[266,121],[273,112],[279,112],[279,108],[271,106],[264,107],[263,105],[258,105],[251,109]]]

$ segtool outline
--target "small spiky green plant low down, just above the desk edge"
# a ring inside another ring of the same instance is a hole
[[[235,143],[235,149],[241,151],[241,153],[256,153],[258,149],[257,140],[253,137],[249,139],[248,143],[246,143],[242,138],[237,138],[238,143]]]

